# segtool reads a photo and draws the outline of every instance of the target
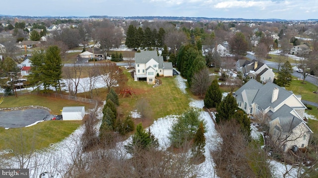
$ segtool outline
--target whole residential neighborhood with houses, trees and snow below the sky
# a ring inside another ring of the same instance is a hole
[[[315,19],[0,15],[0,169],[315,177],[317,56]]]

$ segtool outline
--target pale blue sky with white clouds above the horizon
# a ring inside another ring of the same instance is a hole
[[[4,2],[3,2],[4,1]],[[3,0],[2,15],[318,19],[318,0]]]

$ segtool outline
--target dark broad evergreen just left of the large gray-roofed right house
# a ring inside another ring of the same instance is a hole
[[[216,122],[227,121],[234,117],[238,110],[237,100],[229,93],[217,107]]]

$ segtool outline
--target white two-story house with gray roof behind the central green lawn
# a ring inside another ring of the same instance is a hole
[[[135,53],[135,67],[135,81],[138,81],[140,78],[147,78],[148,84],[155,84],[157,73],[165,77],[173,76],[172,63],[163,62],[162,56],[158,56],[157,51]]]

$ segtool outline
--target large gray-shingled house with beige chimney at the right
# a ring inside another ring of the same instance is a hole
[[[250,79],[236,92],[240,109],[265,122],[273,141],[284,151],[294,145],[305,148],[313,131],[303,120],[306,106],[301,96],[268,82],[265,85]]]

